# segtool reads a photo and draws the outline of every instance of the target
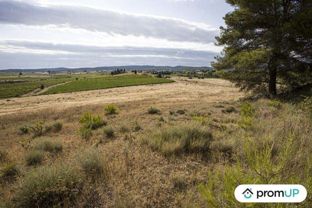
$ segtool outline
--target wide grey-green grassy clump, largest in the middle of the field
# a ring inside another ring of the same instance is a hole
[[[211,141],[211,131],[197,123],[163,127],[143,138],[143,143],[165,156],[205,151]]]

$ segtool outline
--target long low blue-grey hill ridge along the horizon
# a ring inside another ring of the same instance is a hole
[[[107,71],[115,69],[126,69],[126,70],[213,70],[213,67],[208,66],[151,66],[151,65],[129,65],[129,66],[99,66],[99,67],[83,67],[83,68],[43,68],[43,69],[5,69],[0,71],[11,71],[11,72],[29,72],[29,71]]]

